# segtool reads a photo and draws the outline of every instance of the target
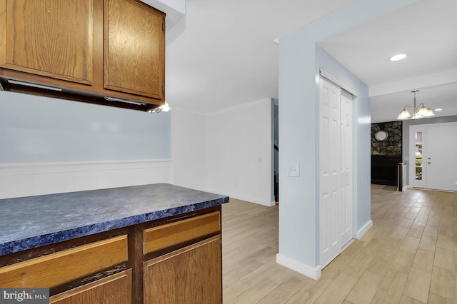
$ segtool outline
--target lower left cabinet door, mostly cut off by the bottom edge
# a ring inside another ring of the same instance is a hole
[[[49,298],[49,303],[131,303],[131,269],[54,295]]]

